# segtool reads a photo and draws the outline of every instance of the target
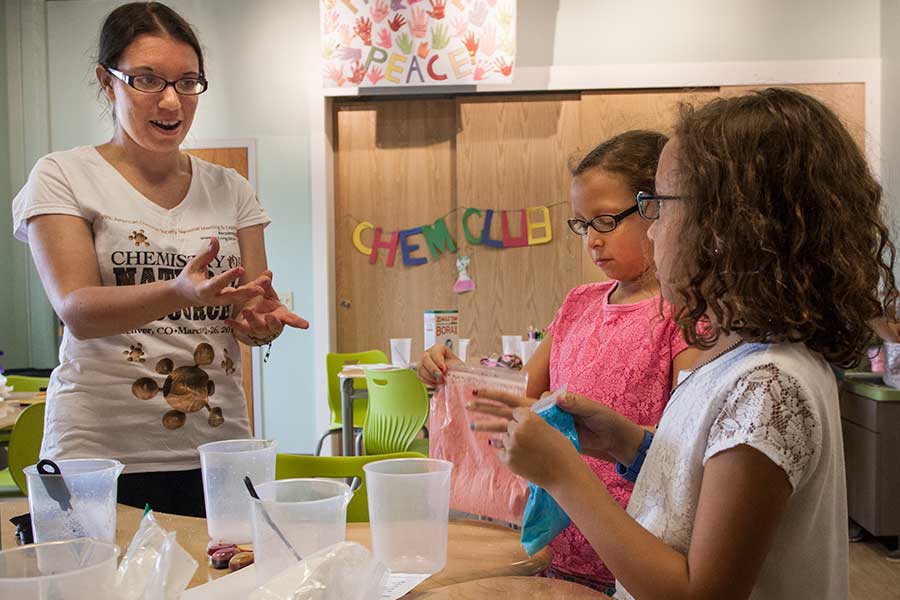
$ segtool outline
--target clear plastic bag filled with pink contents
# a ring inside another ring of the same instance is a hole
[[[434,458],[453,463],[450,483],[450,508],[507,523],[521,524],[528,481],[500,464],[488,439],[496,434],[475,432],[469,422],[475,418],[466,411],[473,389],[498,389],[525,395],[525,375],[503,368],[451,367],[431,400],[429,446]]]

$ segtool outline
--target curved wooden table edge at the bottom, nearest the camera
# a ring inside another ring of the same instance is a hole
[[[583,585],[545,579],[543,577],[492,577],[477,579],[465,583],[457,583],[428,592],[420,592],[418,588],[406,595],[415,600],[529,600],[553,598],[553,600],[609,600],[609,596],[601,594]]]

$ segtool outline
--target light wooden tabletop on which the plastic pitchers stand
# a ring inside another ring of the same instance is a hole
[[[0,503],[0,547],[15,546],[15,529],[9,518],[28,512],[28,502],[17,500]],[[119,505],[116,514],[116,543],[125,552],[128,543],[137,531],[143,510]],[[211,569],[206,558],[209,536],[206,520],[193,517],[179,517],[156,513],[160,526],[178,534],[178,543],[193,556],[200,566],[194,573],[191,586],[206,583],[228,573],[227,570]],[[515,531],[480,521],[450,521],[447,545],[447,566],[432,575],[416,591],[427,591],[455,583],[515,575],[535,575],[550,564],[548,549],[529,558],[519,543]],[[348,523],[347,540],[359,542],[371,549],[368,523]]]

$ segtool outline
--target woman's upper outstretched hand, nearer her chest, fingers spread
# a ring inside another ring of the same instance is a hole
[[[186,306],[241,305],[265,293],[256,281],[237,288],[231,287],[231,282],[244,274],[243,267],[235,267],[210,278],[208,267],[218,253],[218,238],[210,238],[206,249],[192,258],[175,278],[175,293]]]

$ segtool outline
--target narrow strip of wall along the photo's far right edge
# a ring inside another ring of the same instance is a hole
[[[894,243],[900,243],[900,2],[881,4],[881,174]],[[894,268],[900,278],[900,265]]]

